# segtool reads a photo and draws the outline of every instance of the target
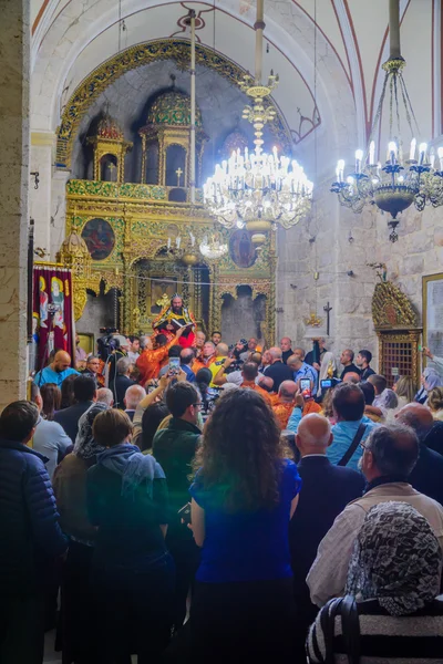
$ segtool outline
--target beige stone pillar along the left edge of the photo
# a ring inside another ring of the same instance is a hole
[[[0,411],[25,397],[30,24],[0,0]]]

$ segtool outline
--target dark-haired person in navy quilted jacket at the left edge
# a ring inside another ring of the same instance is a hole
[[[59,526],[48,459],[28,447],[35,404],[18,401],[0,416],[0,660],[40,664],[44,592],[68,541]]]

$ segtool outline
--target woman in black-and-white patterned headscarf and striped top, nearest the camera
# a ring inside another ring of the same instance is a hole
[[[354,543],[346,596],[330,600],[310,629],[310,664],[441,662],[441,571],[442,550],[422,515],[406,502],[372,507]]]

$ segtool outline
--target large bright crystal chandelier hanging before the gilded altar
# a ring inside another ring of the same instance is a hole
[[[238,149],[229,159],[217,164],[213,177],[204,185],[204,203],[209,212],[226,228],[245,228],[251,234],[256,248],[262,246],[270,229],[280,224],[284,228],[295,226],[310,209],[312,183],[302,167],[277,148],[271,154],[262,151],[262,129],[276,114],[269,101],[278,84],[272,71],[267,85],[261,83],[264,0],[257,0],[256,75],[247,74],[240,84],[251,97],[243,117],[255,129],[254,151]]]

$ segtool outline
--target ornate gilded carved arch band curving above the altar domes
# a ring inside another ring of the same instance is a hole
[[[190,62],[190,44],[188,40],[161,39],[144,44],[131,46],[114,55],[95,69],[74,91],[70,97],[61,124],[58,129],[56,165],[68,168],[76,128],[84,113],[93,101],[122,74],[144,64],[158,60],[174,60],[183,69]],[[196,45],[196,63],[215,70],[220,76],[240,87],[245,71],[230,60],[216,53],[213,49]],[[284,152],[290,152],[291,138],[277,106],[276,115],[269,127]]]

